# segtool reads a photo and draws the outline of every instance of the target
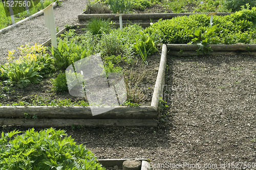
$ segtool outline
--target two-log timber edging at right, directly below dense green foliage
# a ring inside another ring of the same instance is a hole
[[[197,54],[196,50],[199,48],[197,44],[166,44],[167,49],[174,56],[196,56],[205,55],[203,53]],[[212,44],[210,46],[213,52],[209,55],[230,55],[230,54],[250,54],[256,55],[256,44]],[[182,51],[182,52],[181,52]]]

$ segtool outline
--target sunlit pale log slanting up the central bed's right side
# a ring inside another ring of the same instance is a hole
[[[152,96],[151,106],[158,108],[159,97],[163,97],[163,86],[164,86],[164,76],[165,76],[165,68],[166,68],[166,54],[167,47],[165,44],[162,45],[162,54],[159,65],[159,70],[157,74],[157,80],[154,87],[154,93]]]

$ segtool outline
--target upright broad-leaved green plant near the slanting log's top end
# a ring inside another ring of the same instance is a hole
[[[141,56],[142,60],[147,64],[146,57],[157,52],[155,43],[151,34],[143,34],[140,32],[140,35],[135,35],[136,44],[134,45],[136,52]]]

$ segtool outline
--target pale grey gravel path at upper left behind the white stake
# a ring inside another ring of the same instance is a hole
[[[55,27],[61,30],[66,24],[79,24],[77,15],[86,8],[87,2],[87,0],[63,0],[61,6],[54,8]],[[42,44],[50,39],[50,30],[45,27],[45,16],[40,15],[0,34],[0,39],[0,64],[4,64],[7,62],[8,50],[17,51],[17,47],[28,43],[30,45]],[[16,54],[15,58],[17,57]]]

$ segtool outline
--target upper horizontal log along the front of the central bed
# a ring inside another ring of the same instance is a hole
[[[56,106],[0,106],[0,117],[25,117],[36,114],[48,118],[157,118],[157,109],[152,106],[126,107],[116,106],[113,110],[93,116],[91,106],[56,107]],[[106,110],[111,107],[104,106]],[[93,107],[96,112],[101,108]]]

